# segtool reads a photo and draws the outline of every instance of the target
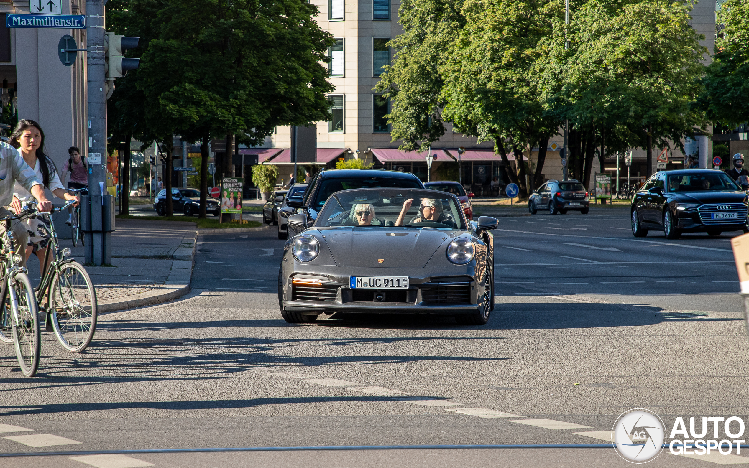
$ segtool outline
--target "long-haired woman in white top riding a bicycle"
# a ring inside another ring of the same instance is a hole
[[[65,191],[65,187],[60,181],[60,177],[57,174],[57,168],[52,159],[44,154],[44,133],[39,124],[35,121],[22,119],[16,124],[16,129],[10,134],[8,140],[10,145],[18,148],[24,162],[34,171],[34,176],[37,180],[41,180],[43,187],[52,190],[58,198],[64,200],[74,200],[76,205],[78,204],[78,197],[70,195]],[[40,195],[44,195],[43,188],[40,187],[39,192],[34,193],[29,191],[24,183],[16,181],[13,186],[13,198],[10,201],[10,209],[14,213],[20,213],[22,210],[22,203],[27,200],[37,201],[37,204],[42,204],[42,201],[47,201],[49,207],[46,211],[52,208],[52,204],[46,200],[46,197],[40,198]],[[34,187],[30,187],[33,189]],[[4,216],[0,213],[0,216]],[[44,264],[44,256],[46,255],[46,246],[49,242],[49,238],[52,237],[52,232],[49,227],[49,220],[46,217],[40,216],[34,219],[25,219],[22,222],[26,229],[26,248],[25,248],[25,261],[34,252],[39,258],[39,271],[42,273],[46,269]]]

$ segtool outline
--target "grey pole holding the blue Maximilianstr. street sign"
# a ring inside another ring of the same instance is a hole
[[[91,231],[85,233],[85,261],[112,263],[112,234],[102,232],[102,189],[106,186],[106,81],[104,73],[104,0],[86,0],[86,46],[88,48],[88,191],[91,200]],[[127,142],[130,145],[130,142]],[[124,193],[124,196],[129,194]]]

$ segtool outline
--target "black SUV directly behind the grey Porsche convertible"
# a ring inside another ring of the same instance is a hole
[[[312,225],[318,217],[325,201],[333,193],[348,189],[402,187],[404,189],[423,189],[419,177],[410,172],[386,171],[384,169],[333,169],[320,171],[312,177],[304,196],[286,197],[286,205],[296,209],[297,215],[305,214],[302,225],[288,222],[288,237],[294,237]],[[291,219],[289,219],[291,221]]]

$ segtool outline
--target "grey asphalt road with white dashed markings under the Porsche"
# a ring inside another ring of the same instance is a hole
[[[202,236],[188,297],[103,315],[80,355],[44,333],[31,379],[0,348],[0,424],[31,429],[0,425],[16,438],[0,438],[0,453],[597,444],[636,407],[668,431],[676,416],[746,420],[749,342],[729,243],[740,233],[669,241],[628,227],[618,210],[501,218],[487,326],[335,315],[291,325],[278,311],[275,231]],[[40,434],[71,442],[22,438]],[[157,467],[629,466],[613,449],[573,448],[128,456]],[[0,467],[146,466],[71,457]],[[649,464],[713,465],[668,453]]]

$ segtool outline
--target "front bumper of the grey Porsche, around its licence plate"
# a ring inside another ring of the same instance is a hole
[[[443,268],[343,268],[315,267],[283,262],[284,310],[308,313],[361,314],[476,314],[488,285],[476,282],[474,267]],[[293,269],[293,271],[292,271]],[[327,271],[326,271],[327,270]],[[397,271],[396,271],[397,270]],[[407,290],[351,289],[349,276],[408,276]],[[294,278],[320,279],[321,286],[297,285]],[[384,300],[375,300],[383,291]],[[395,300],[390,300],[395,297]]]

